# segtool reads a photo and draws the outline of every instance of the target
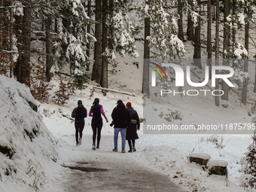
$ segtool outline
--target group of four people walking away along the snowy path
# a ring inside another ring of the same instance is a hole
[[[92,118],[91,126],[93,130],[93,150],[99,149],[99,142],[101,139],[102,131],[102,116],[108,123],[108,118],[105,116],[103,106],[99,105],[99,98],[95,98],[93,106],[90,108],[89,117]],[[87,109],[81,100],[78,100],[78,107],[72,111],[72,117],[75,118],[75,139],[76,145],[81,145],[81,139],[84,130],[84,118],[87,117]],[[113,109],[111,113],[112,122],[110,126],[114,125],[114,149],[112,151],[117,152],[117,140],[118,134],[120,132],[122,138],[122,151],[125,153],[126,140],[130,150],[128,152],[132,153],[136,151],[135,140],[139,139],[137,130],[140,128],[139,115],[136,110],[132,107],[131,102],[127,102],[126,105],[123,104],[122,100],[117,101],[117,106]],[[79,135],[79,138],[78,138]],[[97,138],[97,142],[96,142]]]

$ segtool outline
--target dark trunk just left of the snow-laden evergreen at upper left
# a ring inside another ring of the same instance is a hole
[[[47,82],[50,82],[50,79],[52,78],[52,74],[50,73],[50,69],[53,66],[53,38],[52,35],[50,35],[50,26],[52,24],[52,17],[50,14],[48,15],[46,21],[45,21],[45,35],[46,35],[46,72],[45,76],[47,79]]]

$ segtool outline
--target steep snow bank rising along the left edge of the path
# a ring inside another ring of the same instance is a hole
[[[0,191],[40,191],[57,157],[53,136],[28,88],[0,75],[0,91]]]

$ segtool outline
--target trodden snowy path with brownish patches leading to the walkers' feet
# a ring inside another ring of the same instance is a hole
[[[72,167],[60,178],[63,191],[186,191],[135,160],[136,153],[112,152],[113,136],[102,136],[101,149],[96,151],[89,145],[91,136],[83,140],[84,145],[78,147],[62,146],[72,149],[71,154],[62,154],[69,156],[63,164]]]

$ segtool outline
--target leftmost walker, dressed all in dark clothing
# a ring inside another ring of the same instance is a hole
[[[78,100],[78,107],[74,108],[71,116],[75,118],[75,141],[77,146],[81,145],[83,130],[84,130],[84,118],[87,117],[87,109],[84,108],[81,100]],[[79,133],[79,140],[78,140]]]

